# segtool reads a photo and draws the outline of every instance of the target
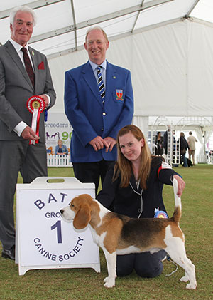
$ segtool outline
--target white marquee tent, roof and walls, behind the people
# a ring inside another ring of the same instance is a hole
[[[99,25],[109,36],[107,59],[131,70],[135,124],[146,131],[153,117],[200,116],[208,126],[190,125],[201,135],[212,130],[212,0],[2,1],[1,44],[10,36],[9,11],[23,4],[38,16],[31,46],[48,56],[58,95],[51,113],[64,112],[64,73],[87,61],[84,36]]]

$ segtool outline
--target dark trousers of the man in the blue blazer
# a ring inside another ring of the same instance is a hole
[[[112,161],[101,160],[99,162],[72,162],[75,177],[80,182],[94,182],[95,195],[99,187],[101,177],[102,185],[109,165]]]

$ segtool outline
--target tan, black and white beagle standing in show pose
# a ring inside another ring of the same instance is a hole
[[[185,269],[185,276],[180,281],[190,281],[186,288],[196,289],[195,266],[186,256],[185,237],[179,227],[181,200],[175,179],[173,189],[175,211],[169,219],[136,219],[116,214],[87,194],[73,198],[69,206],[60,210],[65,221],[73,221],[75,229],[90,225],[94,242],[103,249],[107,260],[108,276],[104,279],[104,286],[115,285],[116,254],[146,251],[153,254],[164,249],[174,262]]]

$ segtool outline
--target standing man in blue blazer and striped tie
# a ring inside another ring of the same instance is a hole
[[[116,160],[116,135],[133,118],[130,71],[106,61],[107,34],[99,26],[87,31],[89,61],[65,73],[65,113],[72,125],[70,145],[75,177],[102,182]]]

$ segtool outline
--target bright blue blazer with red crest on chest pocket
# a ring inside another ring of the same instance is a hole
[[[116,146],[111,152],[94,151],[89,142],[97,137],[116,135],[133,118],[133,89],[130,71],[107,62],[105,102],[89,61],[65,72],[65,113],[72,125],[70,145],[72,162],[116,160]]]

